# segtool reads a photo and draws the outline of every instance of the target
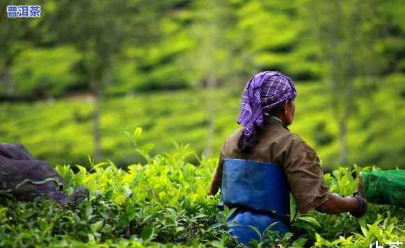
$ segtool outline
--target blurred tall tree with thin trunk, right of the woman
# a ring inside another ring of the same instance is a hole
[[[347,122],[356,98],[374,89],[379,74],[376,1],[308,1],[306,17],[319,45],[337,120],[341,164],[347,162]]]

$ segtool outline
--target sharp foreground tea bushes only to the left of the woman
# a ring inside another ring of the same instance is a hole
[[[183,156],[184,149],[179,149],[154,156],[147,165],[130,165],[127,171],[111,163],[93,164],[90,172],[79,167],[77,174],[69,165],[58,166],[56,170],[67,181],[66,190],[86,185],[90,199],[77,209],[49,201],[1,199],[0,246],[198,244],[227,235],[209,231],[218,199],[205,193],[216,160],[202,159],[195,167]]]

